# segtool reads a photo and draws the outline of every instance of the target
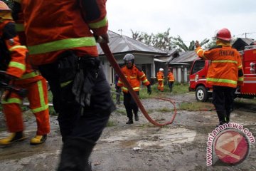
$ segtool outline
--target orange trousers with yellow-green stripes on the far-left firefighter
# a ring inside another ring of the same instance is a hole
[[[29,108],[36,117],[36,135],[46,135],[50,133],[46,79],[43,78],[34,83],[18,85],[17,87],[26,88],[28,90],[26,97],[28,98]],[[5,92],[5,94],[8,93]],[[7,97],[6,100],[1,100],[3,112],[6,116],[7,127],[10,133],[23,131],[24,125],[20,106],[23,99],[14,92],[9,93]]]

